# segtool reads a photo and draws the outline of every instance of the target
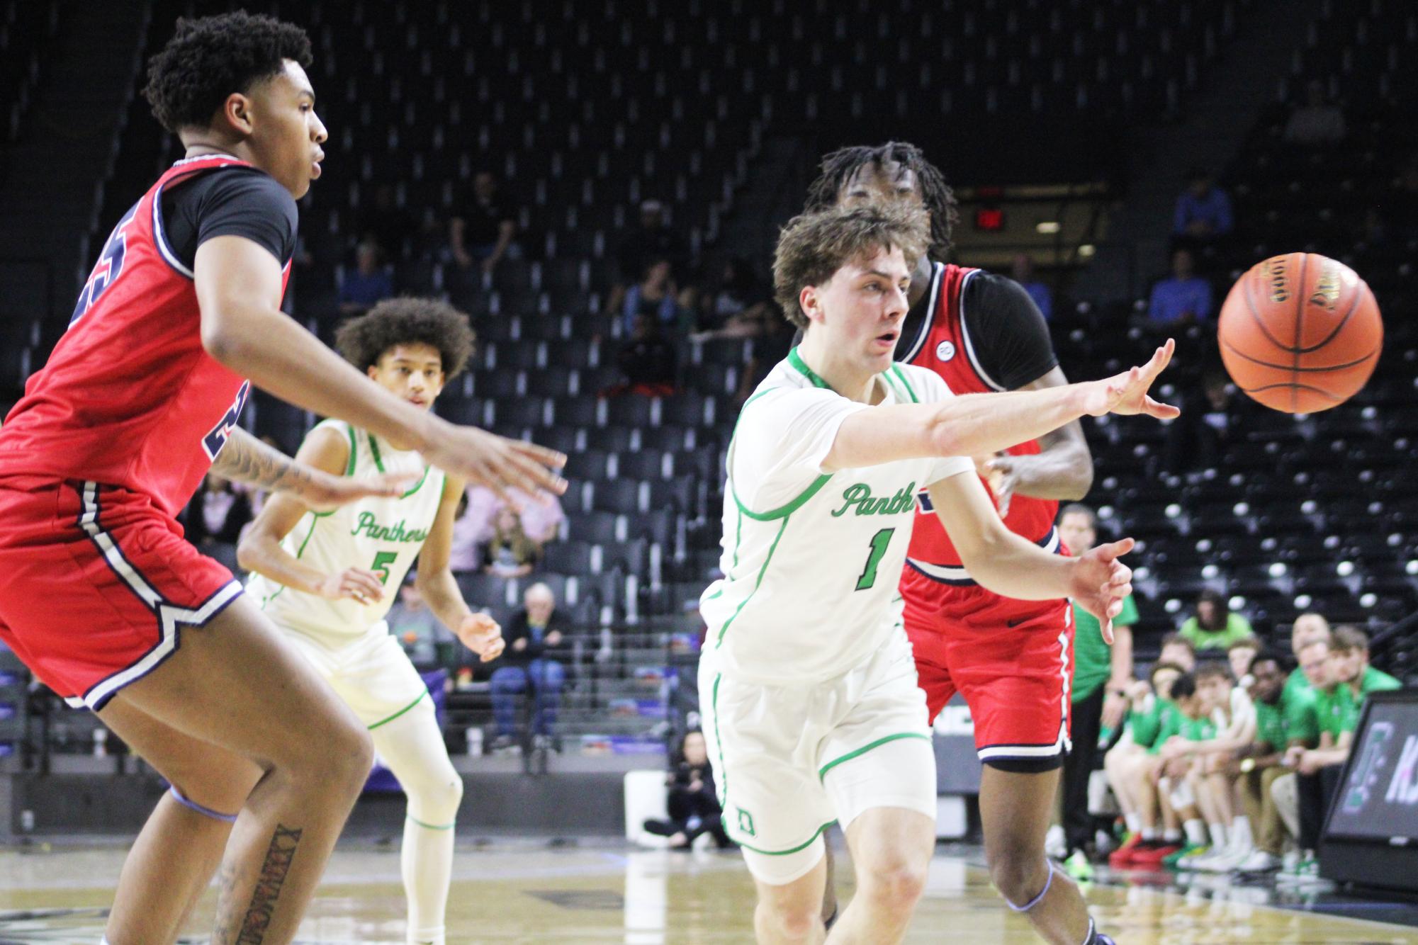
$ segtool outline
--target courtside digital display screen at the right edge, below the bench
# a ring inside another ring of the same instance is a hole
[[[1418,844],[1418,691],[1370,697],[1324,836]]]

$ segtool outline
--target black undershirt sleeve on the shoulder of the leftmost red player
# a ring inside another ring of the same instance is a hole
[[[295,254],[298,211],[291,191],[269,174],[230,167],[163,194],[167,242],[189,269],[213,237],[245,237],[282,266]]]

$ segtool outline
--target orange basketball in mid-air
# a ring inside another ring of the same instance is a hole
[[[1227,295],[1218,323],[1227,373],[1252,400],[1286,414],[1339,407],[1368,383],[1384,346],[1378,303],[1343,262],[1271,256]]]

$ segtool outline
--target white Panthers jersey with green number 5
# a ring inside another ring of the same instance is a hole
[[[247,592],[261,609],[284,626],[316,636],[356,638],[384,619],[408,568],[418,560],[442,499],[444,473],[428,466],[414,451],[400,451],[373,434],[328,419],[319,424],[349,436],[346,476],[411,472],[420,477],[398,499],[369,497],[335,511],[306,513],[281,541],[281,547],[313,568],[333,574],[367,568],[384,581],[380,601],[328,601],[313,594],[251,575]]]

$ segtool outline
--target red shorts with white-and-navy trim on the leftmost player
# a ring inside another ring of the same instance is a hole
[[[240,594],[142,493],[0,479],[0,642],[71,706],[102,708]]]

